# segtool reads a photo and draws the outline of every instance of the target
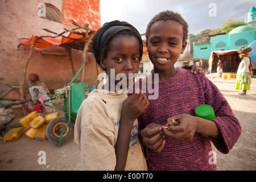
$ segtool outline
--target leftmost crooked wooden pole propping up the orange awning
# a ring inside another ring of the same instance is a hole
[[[26,59],[25,64],[24,64],[24,67],[23,67],[22,82],[21,82],[20,85],[19,85],[20,100],[22,100],[22,101],[25,99],[25,98],[24,98],[24,89],[23,89],[23,85],[24,85],[24,82],[25,82],[25,79],[26,79],[27,65],[28,65],[28,62],[29,62],[30,59],[31,59],[33,50],[34,50],[34,45],[31,45],[31,46],[30,46],[30,53],[28,54],[27,59]],[[22,104],[22,110],[23,110],[23,114],[24,114],[24,115],[27,115],[26,106],[25,106],[24,104]]]

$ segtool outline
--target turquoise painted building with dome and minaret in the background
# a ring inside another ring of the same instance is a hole
[[[193,58],[209,59],[210,53],[249,46],[256,40],[256,9],[251,7],[245,26],[234,28],[229,34],[211,36],[210,41],[193,45]],[[256,63],[255,63],[256,64]]]

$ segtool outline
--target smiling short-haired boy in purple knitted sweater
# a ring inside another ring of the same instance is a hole
[[[217,87],[204,74],[174,67],[187,38],[187,23],[172,11],[159,13],[147,26],[146,46],[154,69],[148,76],[152,82],[139,81],[147,88],[157,82],[159,89],[158,98],[149,100],[150,106],[138,118],[149,170],[216,170],[211,142],[227,154],[241,135],[240,123]],[[152,95],[148,90],[145,94]],[[212,106],[216,117],[195,117],[201,104]],[[172,119],[179,126],[170,126]]]

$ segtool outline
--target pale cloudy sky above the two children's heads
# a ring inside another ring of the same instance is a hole
[[[161,11],[179,13],[188,23],[189,34],[218,28],[226,20],[243,22],[255,0],[100,0],[101,24],[112,20],[133,24],[140,34]]]

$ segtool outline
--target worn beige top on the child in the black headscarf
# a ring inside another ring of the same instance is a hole
[[[75,142],[81,151],[84,170],[114,170],[119,119],[126,98],[125,93],[94,89],[82,102],[75,122]],[[137,119],[131,131],[125,170],[147,170],[138,141]]]

